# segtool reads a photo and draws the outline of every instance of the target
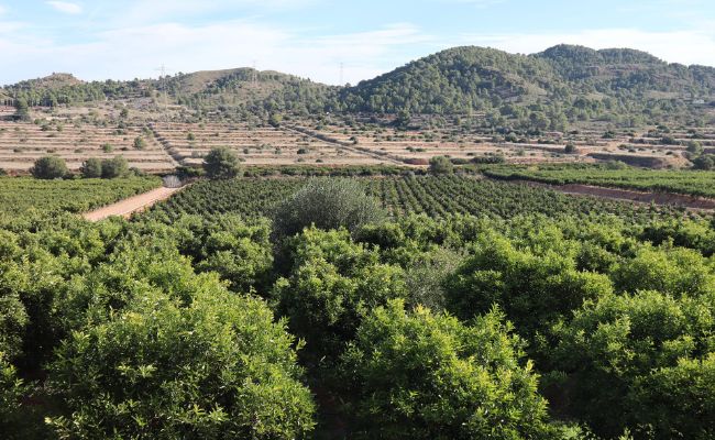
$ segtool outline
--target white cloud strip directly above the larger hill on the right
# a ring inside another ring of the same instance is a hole
[[[712,29],[672,32],[603,29],[574,33],[473,34],[463,35],[462,44],[525,54],[541,52],[561,43],[592,48],[628,47],[648,52],[669,63],[715,66],[715,32]]]

